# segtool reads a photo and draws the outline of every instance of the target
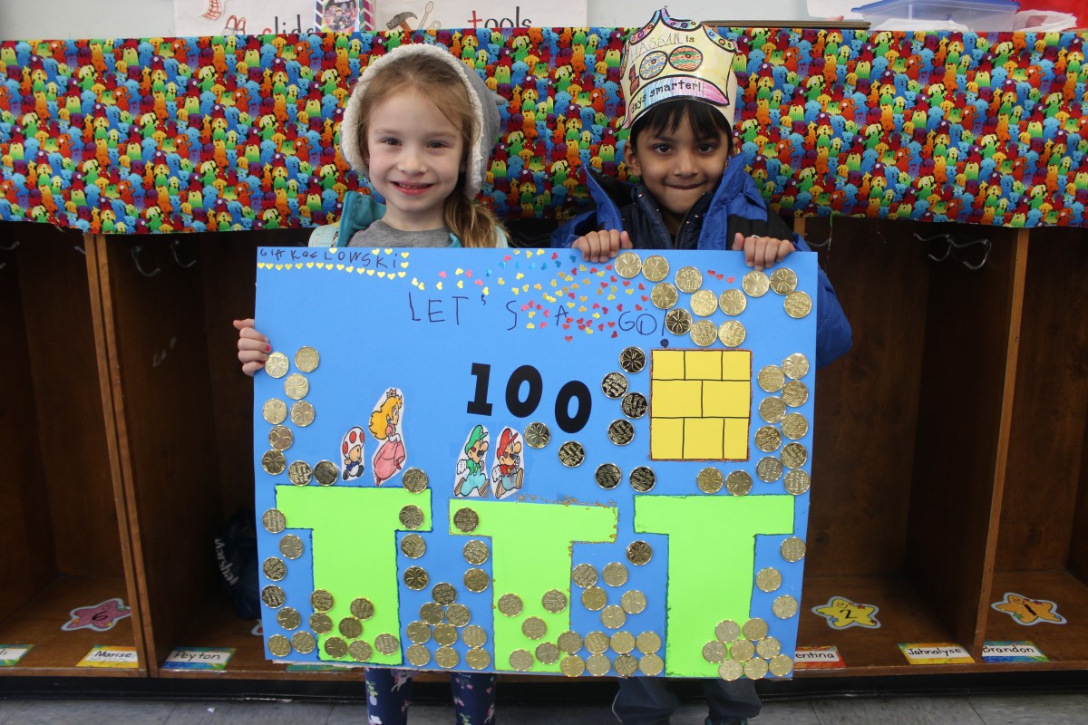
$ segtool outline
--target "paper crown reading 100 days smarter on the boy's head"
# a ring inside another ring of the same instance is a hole
[[[623,45],[623,128],[657,103],[689,98],[709,103],[733,125],[737,45],[695,21],[662,8]]]

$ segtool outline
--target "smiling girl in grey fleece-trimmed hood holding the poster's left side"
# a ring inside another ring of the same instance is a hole
[[[507,247],[506,233],[474,203],[498,138],[503,100],[445,48],[399,46],[373,60],[351,91],[341,151],[385,199],[350,192],[339,225],[311,247]],[[236,320],[238,360],[252,375],[272,351],[252,320]],[[412,671],[368,668],[371,725],[407,721]],[[450,673],[458,725],[494,723],[495,676]]]

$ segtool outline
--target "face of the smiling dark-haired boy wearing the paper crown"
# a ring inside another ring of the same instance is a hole
[[[628,146],[627,157],[631,172],[660,204],[666,228],[676,235],[684,214],[721,180],[729,161],[729,138],[724,132],[696,138],[684,117],[671,130],[644,129],[636,145]]]

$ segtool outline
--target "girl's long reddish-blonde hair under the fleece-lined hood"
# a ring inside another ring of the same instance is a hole
[[[465,147],[461,162],[468,163],[473,132],[480,120],[473,113],[465,91],[465,83],[458,77],[457,71],[441,60],[426,55],[406,57],[385,63],[374,71],[367,92],[360,99],[359,126],[355,130],[363,159],[368,162],[370,160],[367,127],[371,113],[395,93],[409,90],[430,99],[457,128]],[[460,239],[463,247],[494,247],[495,236],[502,229],[502,224],[490,209],[466,195],[463,171],[457,179],[457,186],[443,202],[443,216],[446,226]]]

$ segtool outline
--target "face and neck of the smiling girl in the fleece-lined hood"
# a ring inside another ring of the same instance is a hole
[[[401,232],[442,228],[443,203],[465,168],[460,129],[430,99],[406,90],[374,107],[366,148],[385,223]]]

